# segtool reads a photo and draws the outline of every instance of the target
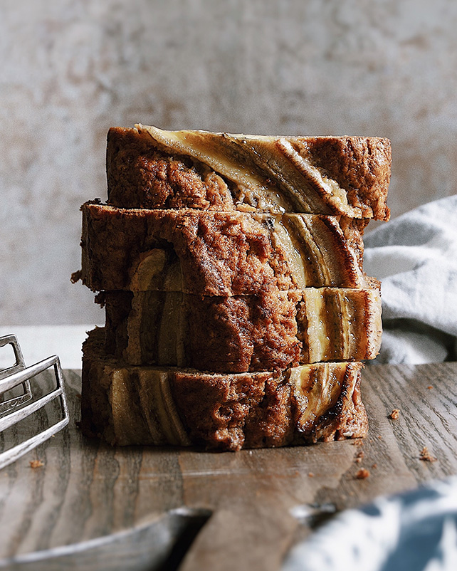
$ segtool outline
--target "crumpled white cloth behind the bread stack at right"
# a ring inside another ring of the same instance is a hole
[[[382,281],[381,351],[373,364],[456,359],[457,196],[367,234],[364,271]]]

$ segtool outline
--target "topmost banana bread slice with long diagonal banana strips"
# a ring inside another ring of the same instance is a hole
[[[389,219],[391,147],[380,137],[263,137],[112,127],[108,199],[194,208]]]

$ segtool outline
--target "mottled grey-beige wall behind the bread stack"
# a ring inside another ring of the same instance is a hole
[[[110,125],[382,135],[398,216],[455,192],[457,2],[0,0],[0,323],[103,322],[70,283]]]

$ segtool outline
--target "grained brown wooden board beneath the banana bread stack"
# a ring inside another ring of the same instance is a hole
[[[70,427],[0,472],[0,568],[278,570],[333,510],[457,473],[457,363],[364,370],[363,442],[235,454],[87,441],[64,376]]]

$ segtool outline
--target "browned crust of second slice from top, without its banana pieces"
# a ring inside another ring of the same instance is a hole
[[[82,246],[83,283],[93,290],[130,289],[142,254],[161,247],[179,258],[188,293],[231,295],[293,286],[284,255],[273,250],[266,229],[241,213],[85,204]]]

